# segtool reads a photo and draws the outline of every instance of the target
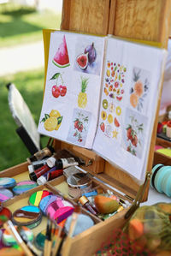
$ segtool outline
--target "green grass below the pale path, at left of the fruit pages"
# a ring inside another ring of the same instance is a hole
[[[30,156],[27,147],[15,132],[17,125],[9,111],[6,84],[10,81],[13,81],[21,92],[21,95],[32,112],[35,122],[38,124],[43,99],[44,70],[38,69],[0,78],[0,170],[9,168],[15,164],[21,164]],[[43,146],[46,145],[47,141],[48,137],[44,137],[42,140]]]

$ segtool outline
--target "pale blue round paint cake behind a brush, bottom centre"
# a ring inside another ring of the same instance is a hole
[[[66,223],[65,223],[65,229],[66,229],[67,233],[68,233],[68,230],[70,228],[71,220],[72,220],[72,216],[69,216]],[[85,214],[80,214],[78,219],[77,219],[77,223],[75,225],[75,228],[74,228],[73,236],[74,235],[79,235],[80,233],[82,233],[86,229],[91,228],[93,225],[94,225],[94,222],[92,221],[91,217],[89,217]]]

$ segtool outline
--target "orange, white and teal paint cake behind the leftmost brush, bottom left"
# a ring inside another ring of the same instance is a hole
[[[17,226],[15,226],[15,229],[17,230]],[[31,229],[28,229],[25,226],[21,227],[22,232],[24,232],[24,234],[27,237],[27,241],[33,241],[33,233]],[[21,231],[19,231],[19,233],[21,234]],[[11,235],[9,233],[8,230],[4,229],[3,231],[3,244],[6,246],[14,246],[17,244],[17,241],[15,240],[15,237],[13,235]]]

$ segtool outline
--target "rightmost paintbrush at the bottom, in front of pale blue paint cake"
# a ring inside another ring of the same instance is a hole
[[[71,244],[71,241],[72,241],[72,237],[74,235],[74,229],[76,227],[77,220],[78,220],[78,217],[79,217],[79,214],[80,214],[80,209],[81,209],[80,205],[75,206],[74,212],[72,214],[70,227],[69,227],[69,230],[68,230],[68,235],[64,235],[64,237],[62,238],[62,243],[61,243],[60,248],[58,249],[57,256],[60,255],[61,250],[62,250],[62,255],[68,255],[68,253],[69,253],[70,244]],[[65,239],[65,237],[66,237],[66,239]],[[64,239],[65,239],[65,241],[64,241]],[[64,241],[64,243],[63,243],[63,241]]]

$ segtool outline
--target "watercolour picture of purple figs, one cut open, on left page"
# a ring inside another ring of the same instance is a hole
[[[79,39],[75,47],[74,69],[86,74],[100,74],[103,43],[96,38]]]

